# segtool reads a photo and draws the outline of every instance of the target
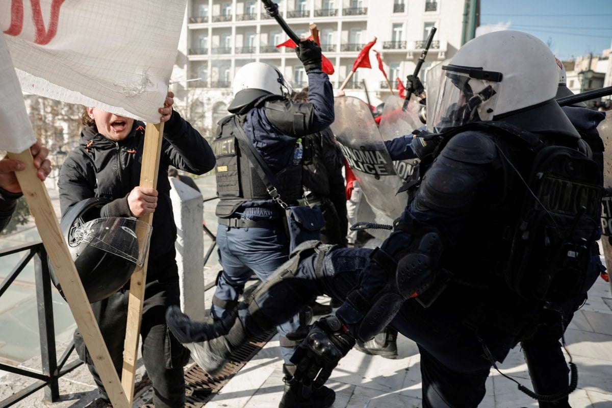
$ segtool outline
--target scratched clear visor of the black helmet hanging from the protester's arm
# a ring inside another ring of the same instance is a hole
[[[91,247],[142,266],[149,249],[151,232],[151,225],[136,218],[109,217],[84,223],[75,229],[72,236]]]

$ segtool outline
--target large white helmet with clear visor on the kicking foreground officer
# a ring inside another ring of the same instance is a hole
[[[558,67],[548,46],[531,34],[496,31],[466,43],[442,67],[433,111],[437,131],[501,119],[554,102]]]

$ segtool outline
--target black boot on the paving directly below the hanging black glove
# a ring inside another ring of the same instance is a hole
[[[334,390],[324,385],[321,388],[305,388],[302,383],[293,380],[295,373],[295,365],[283,364],[285,393],[278,408],[327,408],[334,404]]]

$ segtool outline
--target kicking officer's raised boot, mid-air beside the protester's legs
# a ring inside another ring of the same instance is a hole
[[[193,360],[211,376],[221,371],[231,354],[250,336],[235,311],[210,324],[192,321],[178,306],[170,306],[166,322]]]

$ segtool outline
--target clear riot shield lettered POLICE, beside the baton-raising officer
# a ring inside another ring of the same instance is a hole
[[[356,97],[339,97],[334,100],[334,109],[335,121],[330,128],[367,202],[379,212],[375,220],[360,221],[390,224],[403,212],[408,194],[396,194],[403,183],[384,146],[370,107]],[[376,230],[368,232],[378,235]]]

